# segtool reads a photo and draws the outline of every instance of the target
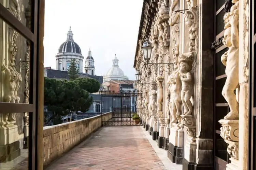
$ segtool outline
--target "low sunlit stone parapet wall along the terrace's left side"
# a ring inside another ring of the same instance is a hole
[[[102,117],[102,119],[101,119]],[[112,112],[82,120],[44,127],[44,166],[51,164],[64,153],[97,131],[102,122],[108,121]]]

